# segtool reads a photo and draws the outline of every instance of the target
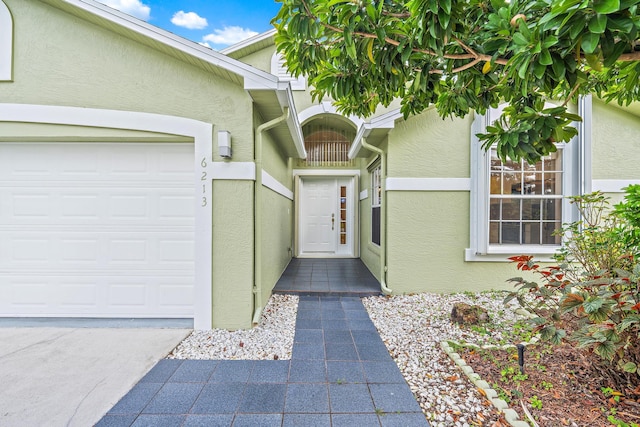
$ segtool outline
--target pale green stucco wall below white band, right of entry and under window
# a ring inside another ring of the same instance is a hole
[[[509,289],[509,263],[464,261],[468,192],[387,194],[387,286],[395,294]]]

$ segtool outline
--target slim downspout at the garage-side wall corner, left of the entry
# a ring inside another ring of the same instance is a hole
[[[267,123],[263,123],[256,129],[256,142],[254,147],[256,163],[256,183],[253,192],[254,210],[254,242],[253,242],[253,324],[260,322],[262,315],[262,133],[289,118],[289,107],[283,108],[283,114]]]

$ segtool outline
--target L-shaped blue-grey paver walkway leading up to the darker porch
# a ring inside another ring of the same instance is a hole
[[[291,360],[162,360],[98,426],[429,426],[357,297],[300,296]]]

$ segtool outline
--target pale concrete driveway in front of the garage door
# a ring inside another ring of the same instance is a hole
[[[0,426],[91,426],[190,332],[0,327]]]

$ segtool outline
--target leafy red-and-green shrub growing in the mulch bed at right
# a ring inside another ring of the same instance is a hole
[[[627,195],[639,194],[634,187]],[[527,255],[509,258],[538,280],[510,279],[516,289],[505,299],[517,299],[536,315],[532,322],[543,339],[570,339],[600,356],[603,373],[620,388],[640,383],[638,222],[628,218],[640,211],[625,208],[637,200],[627,197],[612,211],[602,193],[573,197],[581,219],[559,231],[564,245],[557,265],[541,266]],[[631,219],[640,220],[640,213]]]

